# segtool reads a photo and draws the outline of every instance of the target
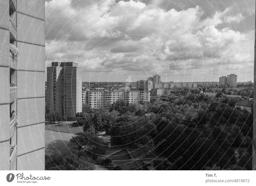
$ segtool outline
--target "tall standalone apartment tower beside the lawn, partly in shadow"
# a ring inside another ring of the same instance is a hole
[[[82,112],[82,68],[75,62],[52,62],[47,67],[47,105],[63,119],[76,120]]]

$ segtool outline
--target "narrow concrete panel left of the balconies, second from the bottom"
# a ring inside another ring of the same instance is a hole
[[[9,130],[10,130],[9,105],[0,105],[0,142],[10,139]]]

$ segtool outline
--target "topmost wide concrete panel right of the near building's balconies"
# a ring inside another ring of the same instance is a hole
[[[44,19],[44,0],[17,1],[17,11],[27,15]]]

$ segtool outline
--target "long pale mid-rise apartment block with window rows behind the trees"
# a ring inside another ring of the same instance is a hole
[[[150,91],[86,91],[85,104],[90,108],[100,109],[107,102],[114,103],[118,99],[123,99],[132,104],[138,101],[150,101]]]

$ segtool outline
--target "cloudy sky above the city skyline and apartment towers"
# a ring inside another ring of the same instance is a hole
[[[83,81],[253,81],[254,0],[48,0],[45,59]]]

